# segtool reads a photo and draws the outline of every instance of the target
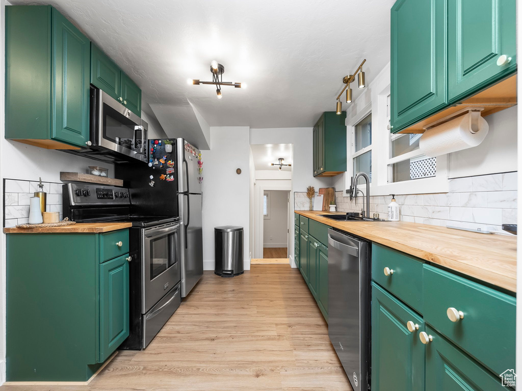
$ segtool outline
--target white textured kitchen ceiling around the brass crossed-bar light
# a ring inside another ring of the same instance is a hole
[[[389,61],[394,1],[10,3],[54,5],[136,81],[151,107],[189,100],[209,126],[271,128],[310,127],[333,111],[342,77],[363,58],[371,82]],[[212,86],[188,85],[211,79],[212,59],[224,65],[224,81],[248,88],[224,87],[218,100]]]

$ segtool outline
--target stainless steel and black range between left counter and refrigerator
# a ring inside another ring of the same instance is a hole
[[[180,222],[131,213],[129,189],[63,186],[63,213],[81,223],[130,222],[130,335],[121,349],[144,349],[180,306]]]

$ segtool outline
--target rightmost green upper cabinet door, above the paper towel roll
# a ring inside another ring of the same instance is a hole
[[[516,50],[516,0],[448,0],[449,103],[515,72]]]

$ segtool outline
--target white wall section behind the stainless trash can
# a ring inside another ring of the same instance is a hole
[[[245,270],[250,268],[250,143],[248,127],[211,127],[212,149],[203,155],[203,260],[206,270],[215,261],[214,227],[238,225],[244,229]],[[242,173],[236,174],[241,168]]]

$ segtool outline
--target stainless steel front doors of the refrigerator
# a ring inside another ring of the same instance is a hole
[[[181,296],[203,276],[203,175],[200,151],[179,138],[176,142],[177,205],[181,224]]]

